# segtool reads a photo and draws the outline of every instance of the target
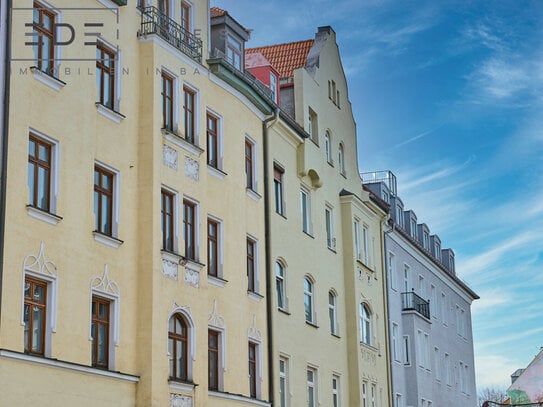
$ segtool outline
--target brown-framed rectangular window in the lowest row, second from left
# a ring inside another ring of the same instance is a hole
[[[92,297],[92,365],[106,369],[109,363],[109,306],[109,300]]]

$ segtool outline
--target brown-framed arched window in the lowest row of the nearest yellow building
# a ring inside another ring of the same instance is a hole
[[[188,374],[189,325],[185,317],[175,314],[168,327],[168,353],[170,354],[170,378],[189,380]]]

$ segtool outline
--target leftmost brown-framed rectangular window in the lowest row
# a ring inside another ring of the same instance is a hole
[[[24,288],[25,353],[43,356],[45,354],[47,283],[27,277]]]

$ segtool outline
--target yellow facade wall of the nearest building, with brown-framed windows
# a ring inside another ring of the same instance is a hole
[[[190,31],[198,31],[202,41],[201,62],[163,38],[173,24],[150,11],[142,17],[135,2],[118,8],[116,3],[39,2],[76,34],[71,45],[55,47],[56,79],[30,69],[35,57],[32,47],[24,45],[24,32],[33,18],[33,1],[17,0],[18,9],[12,10],[0,404],[267,406],[261,195],[262,121],[271,110],[266,112],[265,102],[257,108],[228,83],[228,72],[211,72],[207,1],[186,2]],[[158,7],[156,1],[148,3]],[[180,22],[181,2],[168,4],[172,19]],[[142,21],[158,24],[152,26],[154,33],[138,35]],[[95,104],[97,47],[83,44],[87,22],[103,23],[101,43],[116,52],[111,109]],[[69,34],[62,32],[67,40]],[[223,65],[215,61],[215,67]],[[162,130],[162,72],[173,81],[170,132]],[[195,95],[193,143],[185,140],[184,88]],[[207,112],[218,123],[218,169],[207,163]],[[29,137],[51,149],[48,210],[29,205]],[[253,148],[249,189],[246,142]],[[96,166],[113,177],[111,236],[93,232]],[[162,250],[162,190],[174,197],[171,252]],[[185,252],[184,201],[194,208],[193,259]],[[219,230],[218,278],[208,276],[208,219]],[[248,239],[254,249],[254,292],[248,291]],[[47,288],[41,356],[25,352],[25,279]],[[106,368],[92,363],[93,298],[109,303]],[[168,332],[174,315],[181,316],[188,331],[188,373],[182,381],[170,380]],[[214,391],[208,391],[208,329],[219,334]],[[256,397],[250,397],[249,343],[256,352]]]

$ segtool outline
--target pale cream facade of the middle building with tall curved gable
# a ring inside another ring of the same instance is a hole
[[[362,188],[330,27],[319,28],[293,82],[293,92],[281,90],[281,103],[293,106],[298,124],[281,115],[268,130],[268,173],[281,173],[282,188],[278,207],[276,175],[268,188],[274,405],[388,406],[386,214]]]

